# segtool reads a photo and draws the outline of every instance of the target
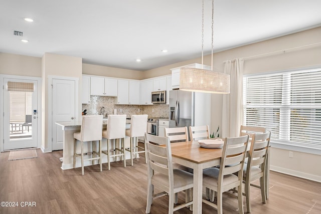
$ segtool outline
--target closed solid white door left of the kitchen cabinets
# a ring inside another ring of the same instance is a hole
[[[63,149],[63,131],[56,122],[75,120],[75,81],[52,79],[52,150]]]

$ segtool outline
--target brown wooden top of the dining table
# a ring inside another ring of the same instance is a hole
[[[205,163],[222,157],[222,148],[203,148],[197,141],[171,143],[172,156],[195,163]]]

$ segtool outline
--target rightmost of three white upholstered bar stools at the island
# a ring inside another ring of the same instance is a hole
[[[145,148],[138,145],[137,137],[143,137],[147,127],[147,114],[131,115],[130,129],[126,129],[126,136],[130,137],[130,147],[126,151],[130,152],[130,163],[133,165],[133,155],[145,153]],[[140,150],[138,150],[140,149]],[[146,153],[145,162],[147,163]]]

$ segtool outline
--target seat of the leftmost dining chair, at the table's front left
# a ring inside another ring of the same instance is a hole
[[[185,185],[193,185],[193,174],[181,170],[181,169],[173,169],[174,172],[174,188],[179,188]],[[151,178],[152,183],[161,184],[169,187],[169,176],[156,173]]]

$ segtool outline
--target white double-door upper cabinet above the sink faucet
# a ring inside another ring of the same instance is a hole
[[[90,95],[116,97],[118,81],[113,78],[90,77]]]

